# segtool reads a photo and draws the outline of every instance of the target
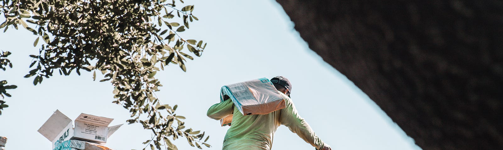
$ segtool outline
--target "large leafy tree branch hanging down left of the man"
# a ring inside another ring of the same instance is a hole
[[[175,113],[177,105],[162,104],[154,93],[162,86],[155,78],[157,71],[170,62],[186,71],[185,58],[193,59],[187,53],[201,56],[206,46],[202,40],[178,34],[198,20],[192,14],[194,5],[179,9],[175,0],[0,0],[0,4],[6,17],[0,28],[21,25],[38,36],[34,46],[43,40],[39,54],[30,55],[33,69],[25,75],[34,76],[33,84],[54,71],[64,75],[93,71],[93,79],[96,71],[101,72],[100,81],[114,86],[113,102],[130,110],[127,122],[141,123],[153,132],[144,144],[177,149],[170,138],[186,137],[192,146],[209,147],[202,141],[204,132],[186,129],[181,120],[185,117]],[[181,26],[175,22],[180,18]]]

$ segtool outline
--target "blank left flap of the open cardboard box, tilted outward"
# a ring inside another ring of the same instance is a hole
[[[56,109],[51,117],[38,129],[38,132],[52,141],[68,124],[72,124],[71,119]]]

